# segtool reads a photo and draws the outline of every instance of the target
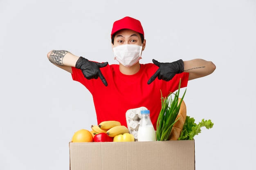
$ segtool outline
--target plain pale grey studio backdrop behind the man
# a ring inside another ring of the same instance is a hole
[[[141,63],[216,64],[186,88],[187,115],[214,123],[195,136],[195,169],[255,170],[254,0],[0,0],[0,170],[69,169],[68,143],[97,124],[95,109],[47,53],[118,64],[110,32],[125,16],[144,27]]]

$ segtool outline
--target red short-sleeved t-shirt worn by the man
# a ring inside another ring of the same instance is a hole
[[[126,111],[144,106],[150,110],[150,119],[156,130],[162,108],[161,91],[163,97],[175,92],[179,88],[180,78],[181,88],[187,86],[189,73],[176,74],[168,82],[156,78],[148,85],[148,80],[159,67],[153,63],[140,66],[139,72],[134,75],[122,74],[118,64],[100,68],[108,86],[100,78],[86,79],[80,69],[72,67],[73,80],[83,84],[92,94],[98,124],[101,121],[117,120],[127,127]]]

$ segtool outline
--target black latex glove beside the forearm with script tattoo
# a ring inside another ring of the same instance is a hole
[[[158,77],[158,79],[162,79],[168,82],[175,76],[175,74],[182,73],[184,71],[184,63],[182,60],[171,63],[162,63],[154,59],[152,61],[159,68],[157,69],[155,74],[148,80],[148,84],[152,83],[156,79],[156,77]]]

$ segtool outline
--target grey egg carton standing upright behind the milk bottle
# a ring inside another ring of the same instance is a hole
[[[138,129],[139,121],[141,119],[141,110],[148,110],[146,107],[142,106],[139,108],[132,108],[126,111],[126,123],[129,133],[134,136],[134,140],[138,139]]]

